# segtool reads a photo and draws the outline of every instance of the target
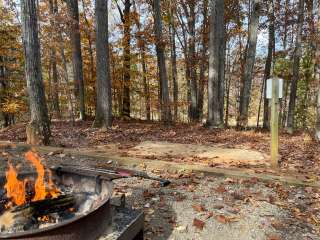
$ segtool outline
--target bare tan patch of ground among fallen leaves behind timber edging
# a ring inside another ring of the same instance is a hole
[[[128,155],[137,157],[187,157],[226,165],[269,165],[264,154],[247,149],[221,148],[215,146],[178,144],[169,142],[142,142],[128,150]]]

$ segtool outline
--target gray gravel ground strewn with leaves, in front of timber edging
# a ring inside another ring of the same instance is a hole
[[[7,153],[0,158],[0,172],[6,169],[8,159],[25,170],[21,157],[24,151],[26,149],[6,150]],[[101,159],[65,154],[43,157],[48,166],[62,162],[106,165]],[[320,239],[317,224],[299,217],[303,215],[303,207],[309,199],[304,188],[267,184],[256,179],[169,174],[159,170],[154,173],[170,178],[172,184],[161,188],[154,181],[137,178],[115,181],[113,201],[125,194],[128,206],[144,210],[145,239]],[[313,193],[309,191],[309,194]],[[290,203],[302,206],[295,210],[299,214],[292,214],[292,209],[288,207]]]

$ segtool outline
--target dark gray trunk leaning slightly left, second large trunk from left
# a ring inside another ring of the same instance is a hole
[[[70,38],[72,45],[72,64],[75,95],[78,97],[80,119],[85,120],[85,89],[83,81],[78,0],[67,0],[67,5],[71,21]]]

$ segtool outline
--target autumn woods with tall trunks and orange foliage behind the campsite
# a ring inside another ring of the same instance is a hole
[[[21,30],[32,4],[49,120],[267,129],[265,83],[278,76],[280,125],[320,129],[319,0],[0,0],[5,127],[33,112]]]

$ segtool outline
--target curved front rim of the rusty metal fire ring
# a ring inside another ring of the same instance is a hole
[[[35,174],[35,172],[22,173],[21,175],[28,175],[28,174]],[[35,229],[35,230],[34,229],[33,230],[27,230],[27,231],[24,231],[24,232],[17,232],[17,233],[5,233],[5,234],[0,233],[0,239],[29,237],[29,236],[32,236],[32,235],[35,235],[35,234],[44,233],[44,232],[47,232],[47,231],[50,231],[50,230],[55,230],[55,229],[58,229],[58,228],[62,228],[64,226],[66,226],[66,225],[69,225],[71,223],[77,222],[80,219],[89,217],[91,214],[93,214],[94,212],[98,211],[100,207],[102,207],[103,205],[107,204],[109,201],[110,201],[110,197],[108,197],[108,198],[104,199],[103,201],[101,201],[94,209],[90,210],[86,214],[81,214],[79,216],[73,217],[73,218],[71,218],[69,220],[65,220],[65,221],[63,221],[61,223],[57,223],[57,224],[54,224],[54,225],[49,226],[49,227],[44,227],[44,228]]]

